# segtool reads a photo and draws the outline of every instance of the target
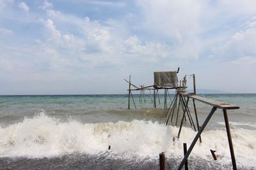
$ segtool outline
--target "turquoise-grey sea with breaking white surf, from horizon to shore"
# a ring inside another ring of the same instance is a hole
[[[196,132],[182,114],[166,126],[164,97],[134,95],[0,96],[0,169],[177,169]],[[205,94],[240,106],[228,110],[238,169],[256,169],[256,94]],[[173,95],[170,96],[173,99]],[[167,103],[170,105],[171,99]],[[189,108],[193,120],[192,103]],[[196,102],[200,125],[211,106]],[[176,118],[176,115],[174,115]],[[173,140],[174,138],[174,140]],[[110,150],[109,150],[110,146]],[[213,160],[210,150],[216,150]],[[232,169],[223,113],[217,110],[188,159],[189,169]]]

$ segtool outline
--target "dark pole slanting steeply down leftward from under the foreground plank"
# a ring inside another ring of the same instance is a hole
[[[193,150],[196,141],[198,140],[199,136],[202,134],[202,132],[204,131],[205,126],[208,124],[209,120],[211,119],[214,111],[216,111],[216,107],[213,106],[211,112],[209,113],[209,115],[207,116],[207,118],[204,121],[204,124],[202,125],[202,127],[200,128],[200,130],[198,131],[198,133],[196,134],[195,138],[193,139],[193,142],[191,143],[191,145],[189,146],[188,152],[186,153],[186,155],[184,156],[184,159],[182,160],[182,162],[180,163],[178,170],[181,170],[182,167],[184,166],[185,162],[188,160],[189,154],[191,153],[191,151]]]

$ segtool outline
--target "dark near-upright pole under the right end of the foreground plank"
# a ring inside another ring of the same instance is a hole
[[[233,148],[233,144],[232,144],[232,137],[231,137],[231,133],[230,133],[230,127],[229,127],[229,123],[228,123],[227,110],[223,109],[223,114],[224,114],[226,131],[227,131],[227,136],[228,136],[228,145],[229,145],[230,155],[231,155],[231,159],[232,159],[232,166],[233,166],[233,169],[236,170],[237,169],[237,167],[236,167],[236,158],[235,158],[234,148]]]

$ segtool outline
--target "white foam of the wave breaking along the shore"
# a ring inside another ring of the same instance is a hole
[[[157,122],[132,120],[116,123],[83,124],[77,120],[60,122],[44,113],[23,122],[0,127],[0,157],[58,157],[66,153],[97,154],[106,152],[124,157],[158,157],[166,152],[168,157],[182,157],[183,144],[195,137],[196,132],[182,127],[165,126]],[[256,131],[232,129],[237,164],[256,167]],[[197,143],[192,155],[212,160],[210,149],[217,150],[220,161],[230,162],[227,133],[207,131],[202,134],[203,143]]]

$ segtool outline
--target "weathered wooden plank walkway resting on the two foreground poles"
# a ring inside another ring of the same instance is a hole
[[[237,110],[237,109],[239,109],[239,106],[236,106],[234,104],[228,104],[228,103],[223,103],[223,102],[220,102],[220,101],[214,101],[214,100],[206,99],[204,97],[200,97],[200,96],[196,96],[196,95],[186,94],[186,96],[188,96],[192,99],[195,99],[196,101],[200,101],[202,103],[209,104],[211,106],[214,106],[214,107],[220,108],[220,109],[224,109],[224,110]]]

